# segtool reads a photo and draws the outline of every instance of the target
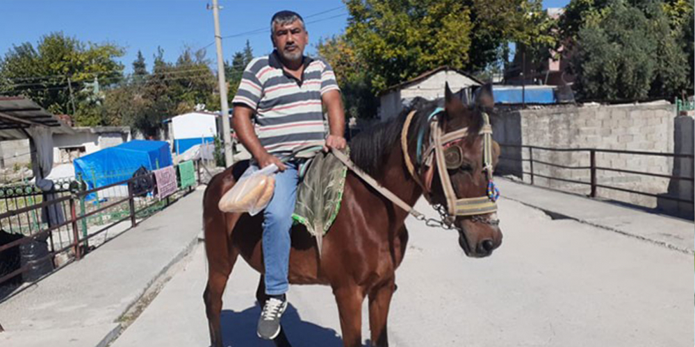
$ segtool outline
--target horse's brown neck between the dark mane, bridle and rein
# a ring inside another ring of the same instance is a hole
[[[389,189],[408,205],[414,206],[423,190],[408,172],[403,158],[403,151],[398,142],[390,151],[384,162],[383,174],[375,178],[384,188]]]

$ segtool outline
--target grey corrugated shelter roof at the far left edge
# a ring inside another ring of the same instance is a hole
[[[71,133],[56,117],[24,96],[0,96],[0,138],[26,138],[22,129],[47,126],[54,133]]]

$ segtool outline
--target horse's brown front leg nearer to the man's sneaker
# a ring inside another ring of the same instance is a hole
[[[334,288],[333,294],[336,296],[338,314],[341,318],[343,346],[362,346],[362,289],[357,286]]]

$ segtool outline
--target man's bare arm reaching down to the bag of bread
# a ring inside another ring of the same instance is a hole
[[[251,122],[251,117],[254,111],[243,104],[234,105],[234,116],[231,118],[232,127],[239,137],[239,142],[251,152],[261,168],[267,167],[270,164],[275,164],[280,171],[285,171],[285,165],[275,156],[265,151],[261,141],[254,132],[254,126]]]

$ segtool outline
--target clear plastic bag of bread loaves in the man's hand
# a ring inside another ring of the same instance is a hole
[[[250,166],[238,182],[224,193],[218,203],[222,212],[248,212],[254,216],[261,212],[275,191],[275,172],[277,167],[270,164],[263,169]]]

